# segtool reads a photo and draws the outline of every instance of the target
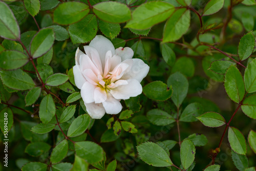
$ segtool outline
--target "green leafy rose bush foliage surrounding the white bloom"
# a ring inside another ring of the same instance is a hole
[[[0,1],[0,170],[255,170],[255,20],[254,0]],[[72,67],[99,34],[150,72],[94,120]]]

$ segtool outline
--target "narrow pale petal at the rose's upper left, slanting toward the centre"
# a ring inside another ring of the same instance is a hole
[[[86,54],[89,56],[89,58],[94,63],[94,65],[98,68],[98,70],[102,74],[102,72],[103,72],[102,64],[101,64],[101,60],[99,58],[98,51],[95,48],[91,47],[91,46],[84,46],[83,48],[84,48],[84,51],[86,51]]]

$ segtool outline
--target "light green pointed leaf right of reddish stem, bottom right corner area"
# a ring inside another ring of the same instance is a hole
[[[228,141],[234,152],[245,155],[247,148],[243,134],[235,127],[228,128]]]

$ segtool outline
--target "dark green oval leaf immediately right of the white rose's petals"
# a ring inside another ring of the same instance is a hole
[[[154,81],[143,87],[143,93],[150,99],[164,101],[172,96],[173,89],[162,81]]]

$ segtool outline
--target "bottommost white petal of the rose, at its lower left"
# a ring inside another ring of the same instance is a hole
[[[86,105],[86,110],[88,114],[91,116],[93,119],[101,119],[105,112],[105,109],[102,105],[102,103],[84,103]]]

